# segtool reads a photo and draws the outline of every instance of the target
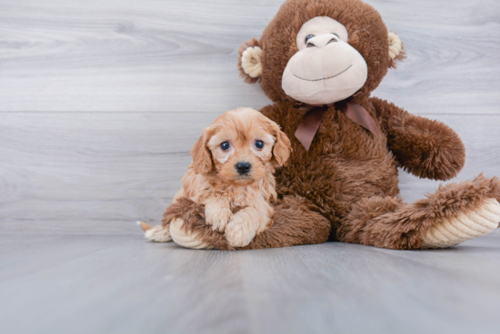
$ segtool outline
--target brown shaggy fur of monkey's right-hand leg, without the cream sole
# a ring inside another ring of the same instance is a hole
[[[421,236],[436,223],[481,211],[488,201],[495,199],[499,189],[496,178],[479,175],[473,181],[440,186],[435,193],[413,204],[392,196],[365,198],[353,205],[337,237],[340,241],[383,248],[420,249]]]

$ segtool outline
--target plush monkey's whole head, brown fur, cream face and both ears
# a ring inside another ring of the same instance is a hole
[[[286,0],[239,54],[246,83],[260,83],[273,101],[309,104],[369,96],[405,58],[397,35],[362,0]]]

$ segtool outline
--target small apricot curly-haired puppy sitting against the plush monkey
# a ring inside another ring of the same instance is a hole
[[[272,225],[276,199],[275,167],[290,156],[290,140],[279,126],[251,108],[215,119],[191,150],[193,162],[174,202],[181,197],[205,204],[205,221],[226,240],[244,247]],[[171,241],[170,221],[151,228],[139,222],[145,238]]]

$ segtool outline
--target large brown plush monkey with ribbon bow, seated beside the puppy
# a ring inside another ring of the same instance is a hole
[[[482,175],[405,203],[397,170],[448,180],[465,149],[443,123],[371,97],[404,58],[375,9],[360,0],[288,0],[260,41],[240,49],[247,83],[274,101],[262,113],[293,146],[276,172],[274,225],[246,249],[338,240],[399,250],[445,248],[493,231],[500,182]],[[231,249],[205,224],[203,207],[178,201],[164,227],[191,248]]]

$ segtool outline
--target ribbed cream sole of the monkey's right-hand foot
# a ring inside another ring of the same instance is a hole
[[[488,199],[475,211],[459,213],[445,218],[421,236],[424,248],[446,248],[481,237],[498,227],[500,203]]]

